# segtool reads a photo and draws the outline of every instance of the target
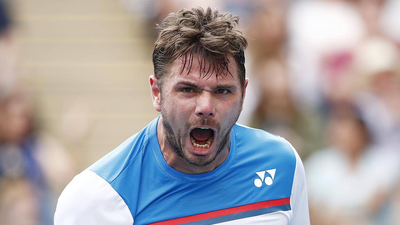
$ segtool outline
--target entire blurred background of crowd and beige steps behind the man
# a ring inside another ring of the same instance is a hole
[[[158,113],[156,23],[240,16],[239,122],[294,145],[313,225],[400,224],[400,1],[0,0],[0,225],[49,225],[80,171]]]

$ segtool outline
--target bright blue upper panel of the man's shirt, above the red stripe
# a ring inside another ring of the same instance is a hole
[[[156,134],[158,119],[88,168],[124,199],[135,225],[290,197],[296,157],[281,137],[234,125],[224,163],[208,173],[190,175],[164,160]],[[272,185],[256,187],[256,172],[269,169],[276,169]]]

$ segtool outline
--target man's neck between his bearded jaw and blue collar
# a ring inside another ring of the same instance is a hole
[[[160,145],[161,153],[164,156],[165,161],[170,167],[176,169],[177,171],[188,174],[207,173],[216,169],[228,157],[230,141],[228,141],[221,153],[218,154],[215,160],[212,161],[210,164],[206,166],[196,166],[188,163],[184,158],[182,158],[172,150],[170,144],[168,143],[168,140],[164,138],[164,128],[162,126],[161,120],[162,118],[160,117],[157,124],[158,144]]]

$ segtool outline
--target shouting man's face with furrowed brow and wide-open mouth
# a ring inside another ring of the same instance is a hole
[[[231,129],[242,110],[244,88],[233,58],[232,76],[228,73],[218,80],[215,72],[200,77],[196,58],[189,73],[186,68],[181,73],[182,59],[169,66],[161,87],[160,110],[171,149],[191,165],[206,166],[229,145]]]

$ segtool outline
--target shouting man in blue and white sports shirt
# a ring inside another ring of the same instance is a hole
[[[248,84],[238,20],[210,7],[165,18],[150,76],[160,117],[71,181],[56,225],[310,223],[296,151],[235,125]]]

